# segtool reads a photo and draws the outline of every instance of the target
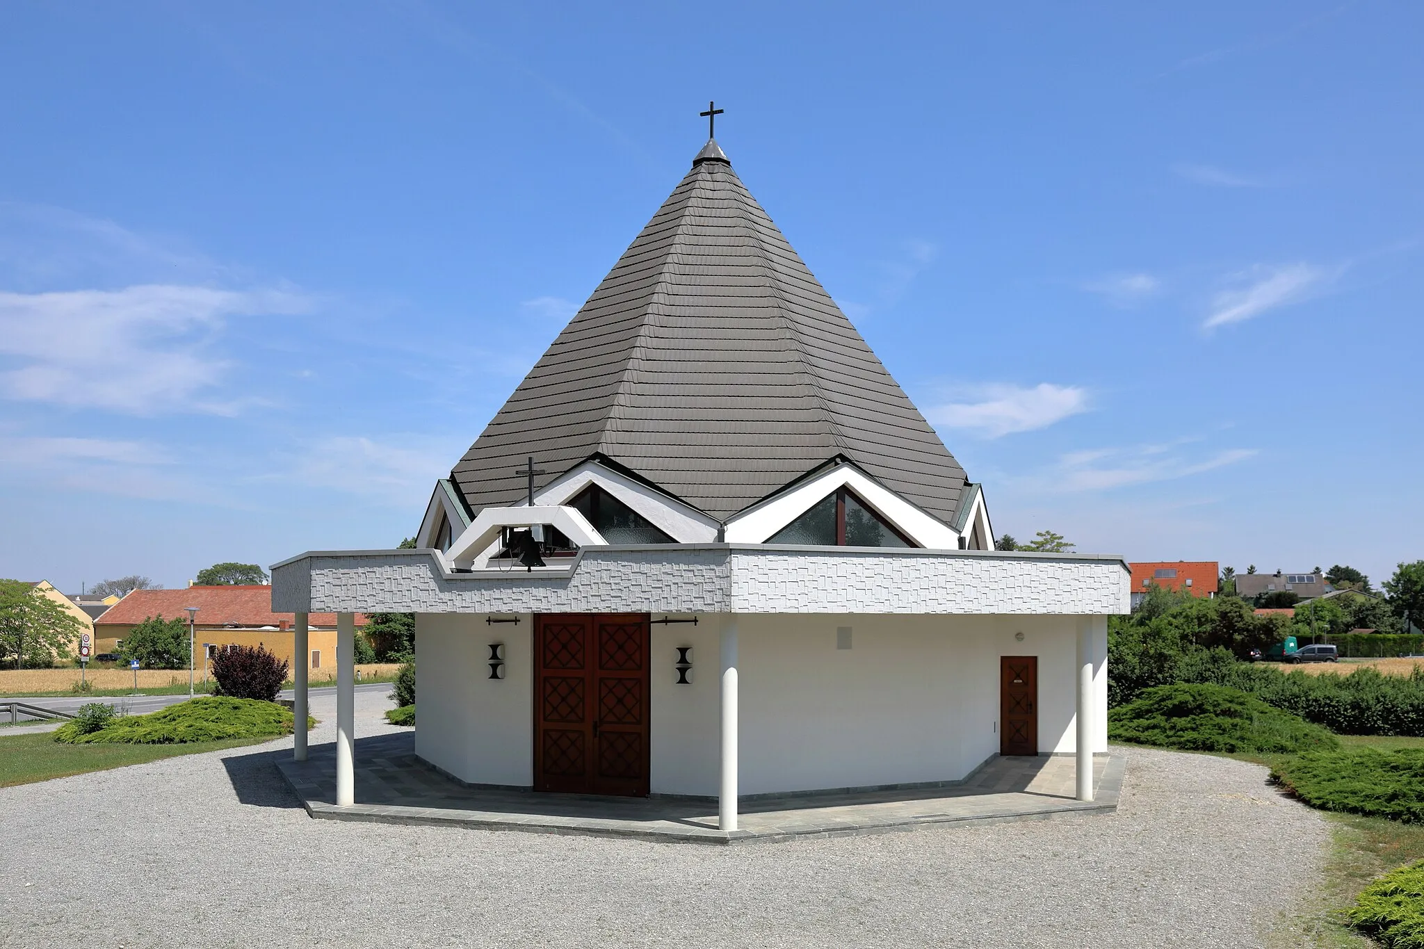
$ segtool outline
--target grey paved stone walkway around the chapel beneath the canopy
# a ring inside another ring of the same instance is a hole
[[[927,824],[1115,811],[1125,760],[1098,756],[1094,765],[1092,802],[1074,798],[1072,757],[993,758],[958,785],[753,798],[742,802],[740,829],[726,832],[718,829],[715,801],[467,788],[416,758],[412,733],[356,741],[356,804],[347,807],[335,804],[335,744],[312,747],[308,761],[278,761],[278,770],[315,818],[699,844],[846,837]]]

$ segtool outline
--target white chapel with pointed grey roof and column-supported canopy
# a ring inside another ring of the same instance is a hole
[[[272,572],[299,629],[416,613],[430,767],[716,798],[723,829],[748,797],[997,756],[1077,754],[1091,800],[1129,595],[1121,556],[994,549],[981,485],[715,139],[437,479],[416,549]]]

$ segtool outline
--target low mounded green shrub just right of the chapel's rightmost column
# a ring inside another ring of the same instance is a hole
[[[1324,728],[1255,696],[1210,684],[1142,691],[1108,713],[1108,737],[1189,751],[1292,753],[1340,744]]]

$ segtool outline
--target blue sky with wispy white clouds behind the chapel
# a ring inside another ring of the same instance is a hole
[[[1424,556],[1424,9],[883,6],[4,4],[0,576],[412,534],[709,98],[995,529]]]

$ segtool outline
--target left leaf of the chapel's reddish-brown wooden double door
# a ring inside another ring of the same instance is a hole
[[[534,617],[534,790],[592,790],[594,654],[587,613]]]

